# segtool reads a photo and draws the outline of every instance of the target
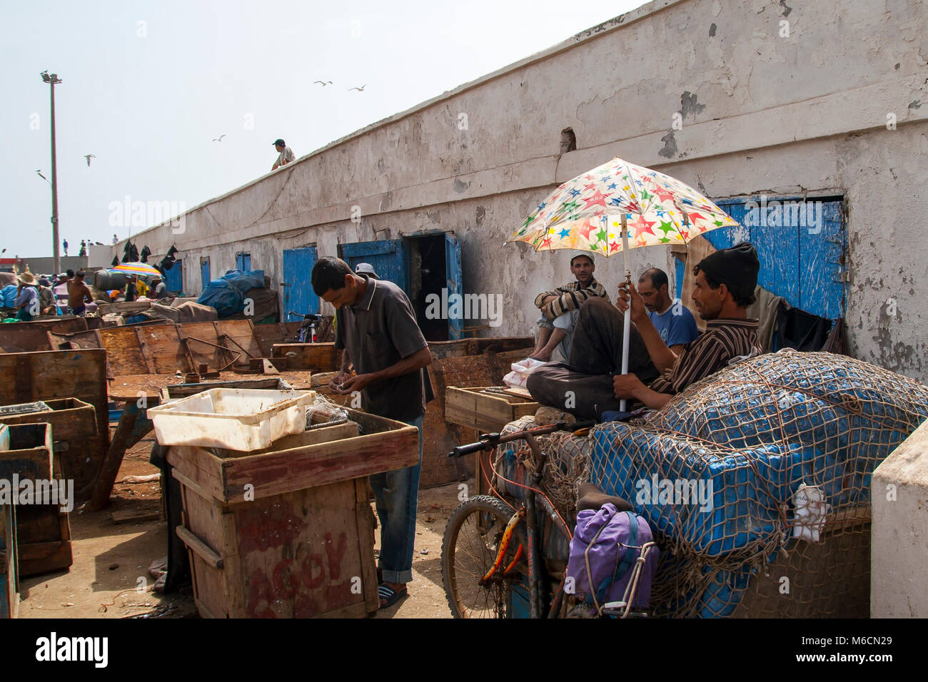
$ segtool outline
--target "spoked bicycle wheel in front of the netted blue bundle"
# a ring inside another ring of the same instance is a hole
[[[524,553],[509,578],[480,584],[496,560],[498,542],[512,514],[499,498],[478,495],[462,502],[448,517],[442,538],[442,583],[455,618],[512,618],[518,606],[527,609],[527,593],[522,589],[528,575]],[[527,550],[522,521],[515,528],[500,571],[515,558],[520,544]]]

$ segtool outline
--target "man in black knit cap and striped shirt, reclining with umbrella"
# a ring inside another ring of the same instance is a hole
[[[634,285],[630,292],[620,290],[618,310],[601,300],[585,302],[574,329],[570,363],[536,369],[527,382],[529,392],[543,405],[567,408],[580,418],[617,410],[622,399],[663,407],[733,359],[760,352],[757,320],[746,314],[754,302],[759,270],[757,251],[748,242],[715,251],[693,268],[693,302],[708,324],[705,333],[678,355],[661,340]],[[625,375],[620,374],[623,315],[631,315],[635,323]],[[565,403],[565,394],[573,404]]]

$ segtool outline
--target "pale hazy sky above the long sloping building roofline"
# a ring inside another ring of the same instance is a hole
[[[277,137],[299,158],[642,4],[7,2],[0,248],[52,253],[51,188],[35,173],[51,179],[45,69],[62,80],[58,212],[75,255],[82,238],[144,229],[111,226],[114,201],[192,208],[267,173]]]

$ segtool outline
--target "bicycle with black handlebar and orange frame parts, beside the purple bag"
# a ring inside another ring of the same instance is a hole
[[[558,422],[508,435],[484,433],[478,443],[460,445],[448,453],[448,457],[463,457],[492,450],[497,444],[524,440],[535,457],[536,465],[535,471],[528,477],[528,484],[524,486],[525,500],[519,508],[513,507],[502,496],[478,495],[462,502],[448,518],[442,540],[442,581],[454,617],[561,616],[566,595],[566,564],[560,568],[541,559],[544,547],[542,535],[539,534],[538,505],[568,545],[572,533],[548,497],[538,488],[548,455],[542,452],[535,436],[554,431],[578,433],[596,423]],[[612,502],[616,508],[631,508],[620,497],[600,494],[599,499]],[[651,547],[646,545],[639,549],[640,558],[632,569],[635,573],[628,581],[623,600],[603,605],[600,610],[603,614],[623,618],[646,615],[632,611],[638,578]],[[468,565],[469,561],[473,563],[472,567]]]

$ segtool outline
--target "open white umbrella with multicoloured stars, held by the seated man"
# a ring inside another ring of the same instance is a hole
[[[570,249],[609,258],[622,254],[631,284],[628,250],[686,244],[739,225],[713,201],[675,177],[619,157],[577,175],[551,192],[509,238],[535,251]],[[625,315],[622,373],[628,373],[630,315]],[[622,401],[625,410],[625,401]]]

